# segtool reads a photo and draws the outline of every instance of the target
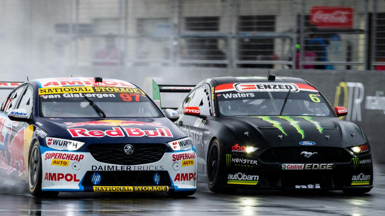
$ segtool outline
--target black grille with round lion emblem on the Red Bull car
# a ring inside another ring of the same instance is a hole
[[[124,153],[127,143],[100,143],[91,144],[88,149],[95,160],[102,163],[137,165],[154,163],[161,160],[166,145],[160,143],[130,143],[134,147],[131,155]]]

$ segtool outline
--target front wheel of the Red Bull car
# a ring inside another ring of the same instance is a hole
[[[28,188],[32,196],[56,197],[57,191],[42,191],[42,157],[40,145],[35,141],[29,152],[28,160]]]

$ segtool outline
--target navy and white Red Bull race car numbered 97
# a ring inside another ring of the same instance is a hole
[[[136,85],[64,77],[0,86],[16,87],[0,110],[0,172],[27,181],[33,196],[195,193],[193,143]]]

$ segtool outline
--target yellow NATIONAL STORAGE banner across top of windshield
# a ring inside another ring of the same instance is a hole
[[[62,94],[62,93],[133,93],[144,95],[139,88],[126,87],[101,87],[101,86],[66,86],[39,88],[39,95]]]

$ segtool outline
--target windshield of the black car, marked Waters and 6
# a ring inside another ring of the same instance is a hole
[[[332,116],[330,105],[318,92],[227,91],[216,93],[216,97],[223,116]]]

